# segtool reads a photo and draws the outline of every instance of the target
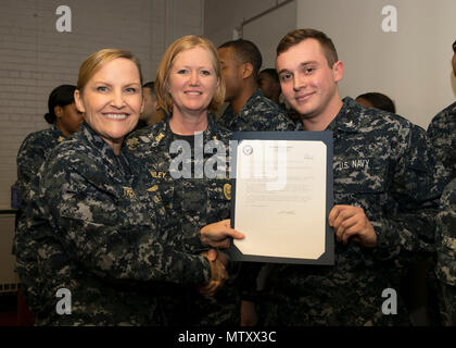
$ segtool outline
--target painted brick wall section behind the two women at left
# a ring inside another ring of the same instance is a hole
[[[72,32],[59,33],[59,5],[72,10]],[[10,208],[16,154],[27,134],[43,129],[50,91],[76,84],[83,60],[116,47],[140,60],[154,79],[166,47],[203,33],[204,0],[2,0],[0,10],[0,209]],[[189,16],[188,16],[189,15]]]

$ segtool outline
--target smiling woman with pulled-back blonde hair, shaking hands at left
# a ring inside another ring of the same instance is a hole
[[[200,284],[212,294],[226,278],[214,250],[175,248],[160,194],[135,175],[142,164],[124,154],[142,109],[141,86],[128,51],[94,52],[80,67],[75,100],[85,123],[41,167],[16,245],[18,256],[29,244],[38,248],[38,325],[161,325],[164,285]],[[192,241],[218,246],[226,233],[219,229],[206,226]],[[56,306],[62,289],[71,294],[66,312]]]

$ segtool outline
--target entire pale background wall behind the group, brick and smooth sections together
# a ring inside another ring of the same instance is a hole
[[[221,45],[233,38],[233,29],[243,21],[282,1],[2,0],[0,209],[10,207],[21,142],[28,133],[47,127],[42,115],[49,92],[60,84],[75,84],[78,66],[89,53],[104,47],[131,50],[142,63],[144,79],[153,79],[174,39],[204,34]],[[55,9],[63,3],[73,12],[72,33],[55,29]],[[398,11],[397,33],[381,29],[381,10],[388,4]],[[281,28],[283,35],[291,27],[322,29],[346,65],[342,96],[384,92],[394,99],[400,114],[427,127],[456,98],[451,70],[455,13],[454,0],[295,0],[248,24],[244,37],[266,52],[278,44],[271,32],[280,36]],[[269,36],[270,42],[264,40]],[[265,65],[269,65],[271,54],[265,52]]]

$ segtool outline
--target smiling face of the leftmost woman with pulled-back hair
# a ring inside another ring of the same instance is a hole
[[[129,59],[116,58],[90,77],[75,102],[85,121],[107,145],[116,149],[138,123],[142,111],[139,70]]]

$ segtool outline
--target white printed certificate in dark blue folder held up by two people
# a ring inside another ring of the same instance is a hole
[[[245,238],[233,240],[235,260],[333,262],[328,240],[333,238],[328,234],[332,141],[283,139],[288,133],[278,133],[281,139],[244,138],[236,148],[232,220]]]

